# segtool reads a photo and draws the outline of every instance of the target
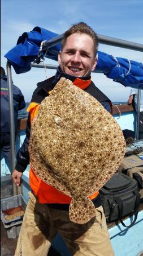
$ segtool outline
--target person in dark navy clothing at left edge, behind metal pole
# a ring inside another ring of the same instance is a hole
[[[17,131],[18,111],[25,108],[24,96],[20,89],[12,84],[14,102],[15,136]],[[1,67],[1,151],[5,157],[7,166],[11,170],[11,145],[10,145],[10,108],[7,76],[5,69]],[[2,157],[2,155],[1,155]]]

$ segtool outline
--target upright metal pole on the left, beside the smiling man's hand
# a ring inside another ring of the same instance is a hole
[[[7,61],[7,85],[9,91],[9,109],[10,109],[10,139],[11,139],[11,171],[15,170],[15,122],[14,122],[14,102],[13,102],[13,91],[12,91],[12,76],[11,76],[11,63]],[[13,182],[13,194],[18,195],[21,193],[19,188]],[[21,188],[20,188],[21,190]],[[19,191],[19,192],[18,192]]]

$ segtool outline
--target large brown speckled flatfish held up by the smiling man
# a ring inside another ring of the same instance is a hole
[[[30,164],[45,183],[72,197],[70,220],[96,215],[89,199],[115,173],[125,153],[118,123],[88,93],[60,79],[32,123]]]

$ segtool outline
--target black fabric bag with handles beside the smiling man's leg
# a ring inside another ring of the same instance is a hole
[[[135,214],[135,218],[128,228],[135,224],[140,206],[136,180],[116,172],[99,190],[99,195],[107,222],[120,220],[125,226],[122,218],[132,213]]]

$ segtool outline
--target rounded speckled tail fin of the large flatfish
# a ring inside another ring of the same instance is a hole
[[[85,224],[94,216],[96,216],[96,209],[89,198],[86,200],[72,199],[69,208],[69,217],[72,222]]]

